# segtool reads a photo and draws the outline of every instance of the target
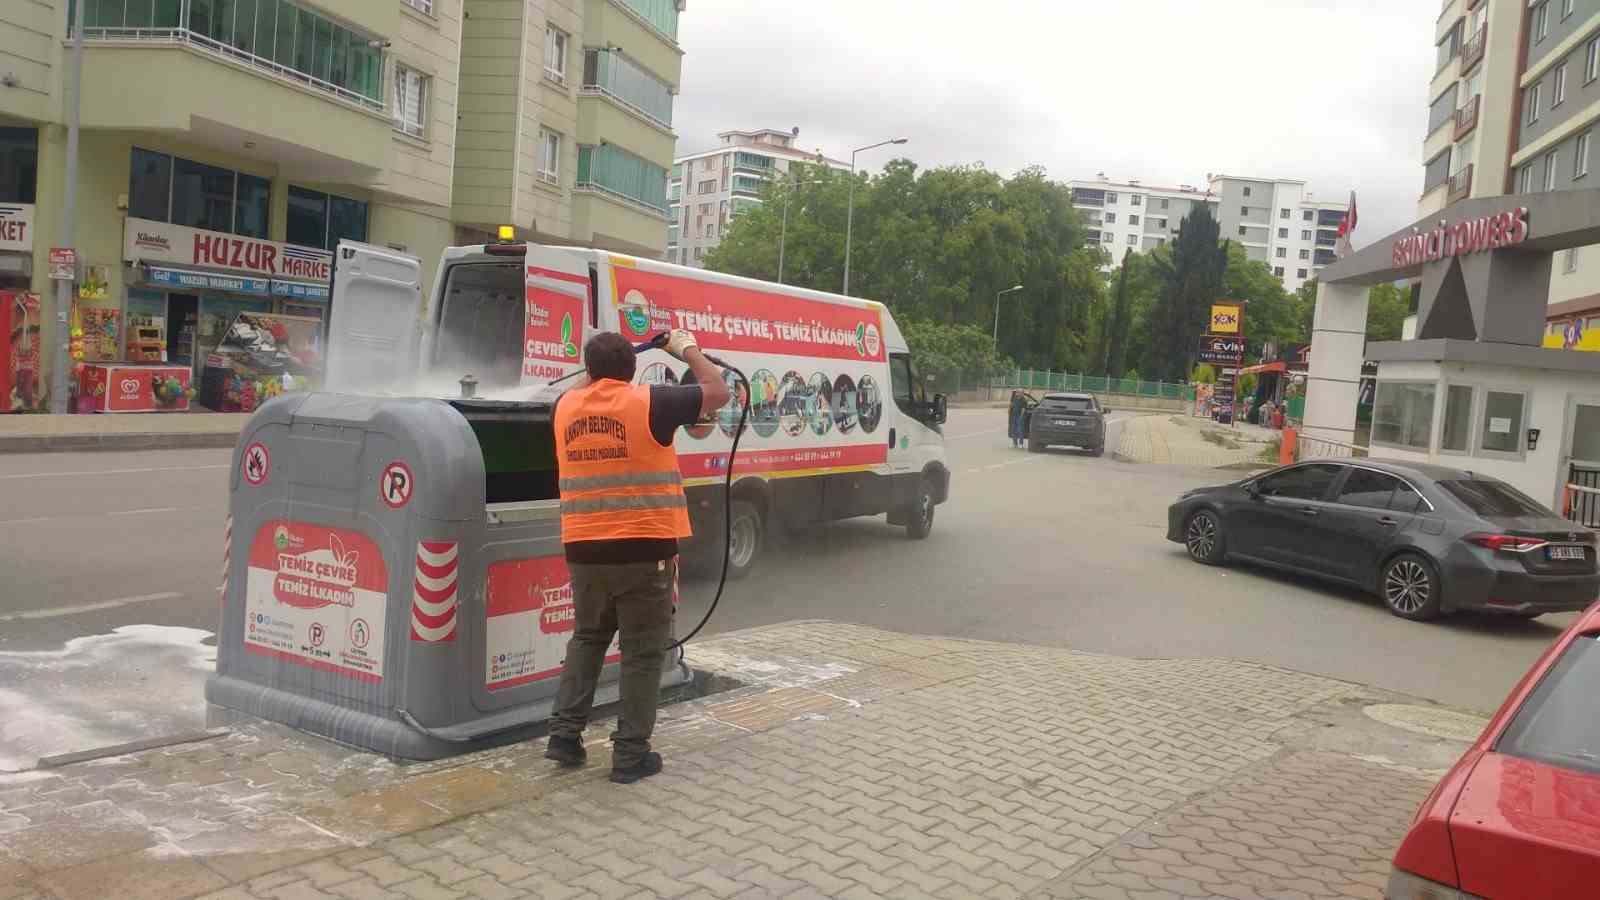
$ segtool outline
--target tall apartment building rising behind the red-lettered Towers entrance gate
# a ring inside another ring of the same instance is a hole
[[[1450,0],[1434,30],[1419,218],[1467,197],[1600,187],[1600,0]],[[1600,245],[1557,255],[1547,319],[1552,333],[1600,328]]]

